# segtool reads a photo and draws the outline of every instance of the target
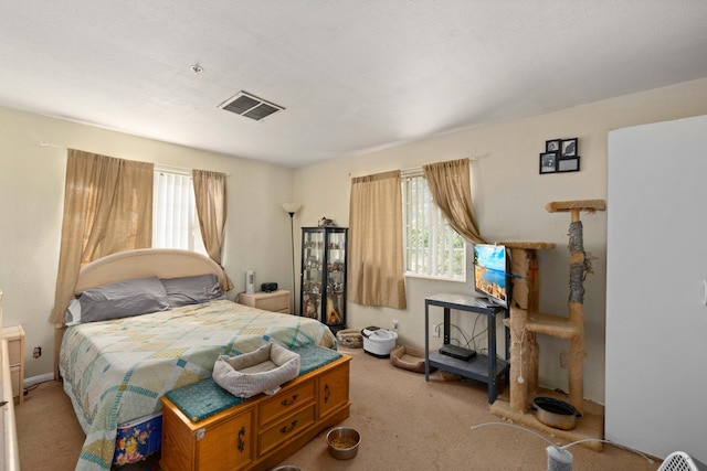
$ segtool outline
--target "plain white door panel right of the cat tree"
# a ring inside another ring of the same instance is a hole
[[[707,116],[609,133],[605,436],[707,461]]]

